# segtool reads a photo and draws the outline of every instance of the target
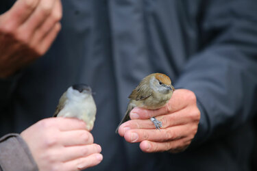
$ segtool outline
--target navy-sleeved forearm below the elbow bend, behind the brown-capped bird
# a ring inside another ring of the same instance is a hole
[[[252,50],[246,53],[236,43],[219,44],[193,57],[184,68],[175,87],[197,96],[201,120],[196,139],[236,129],[256,113],[257,52]]]

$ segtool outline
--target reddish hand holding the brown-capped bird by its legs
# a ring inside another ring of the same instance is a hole
[[[162,122],[160,130],[149,120],[156,117]],[[129,120],[119,127],[119,135],[127,142],[140,142],[140,148],[147,153],[185,150],[195,134],[200,119],[196,97],[193,92],[178,89],[164,107],[156,110],[134,108]]]

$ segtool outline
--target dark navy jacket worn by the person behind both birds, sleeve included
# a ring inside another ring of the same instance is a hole
[[[8,8],[10,1],[1,3]],[[87,83],[96,92],[92,133],[104,158],[89,170],[249,170],[257,106],[256,0],[62,3],[62,31],[49,52],[1,83],[1,122],[8,122],[0,124],[2,135],[52,116],[66,88]],[[183,153],[143,153],[114,133],[127,96],[155,72],[197,96],[199,129]]]

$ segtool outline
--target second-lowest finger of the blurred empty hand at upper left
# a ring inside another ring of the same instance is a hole
[[[43,38],[49,34],[51,29],[56,25],[56,23],[59,23],[60,19],[62,18],[62,4],[60,0],[57,0],[53,10],[51,11],[50,16],[46,19],[38,29],[36,29],[35,34],[32,38],[32,44],[38,44],[42,41]]]

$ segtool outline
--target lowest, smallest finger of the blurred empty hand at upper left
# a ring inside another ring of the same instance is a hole
[[[56,23],[56,25],[51,29],[49,34],[47,34],[47,36],[44,38],[44,40],[42,40],[42,42],[40,44],[40,48],[38,49],[38,53],[40,55],[44,55],[45,52],[49,49],[49,47],[53,43],[53,40],[56,39],[56,36],[58,35],[60,29],[61,29],[61,24]]]

